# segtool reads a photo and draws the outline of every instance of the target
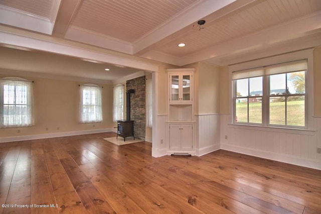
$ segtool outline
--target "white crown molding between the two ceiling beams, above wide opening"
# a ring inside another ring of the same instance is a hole
[[[126,54],[132,54],[132,46],[129,42],[113,37],[108,37],[106,35],[88,31],[75,26],[70,26],[68,28],[65,34],[65,38],[102,48],[107,48],[114,51],[119,51]]]

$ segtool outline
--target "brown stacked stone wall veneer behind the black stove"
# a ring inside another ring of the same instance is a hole
[[[130,120],[134,121],[135,139],[145,140],[145,76],[126,81],[126,91],[134,89],[130,94]]]

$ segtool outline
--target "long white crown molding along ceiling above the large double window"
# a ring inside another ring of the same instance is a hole
[[[321,12],[209,47],[203,51],[182,57],[176,65],[183,66],[209,58],[212,58],[212,60],[220,59],[228,55],[245,54],[282,45],[289,40],[299,39],[300,37],[313,35],[318,32],[320,29],[319,20],[321,20]],[[302,44],[299,44],[299,48],[302,48]],[[320,44],[321,42],[314,41],[313,45],[319,46]],[[298,45],[293,45],[293,47],[287,47],[287,51],[298,50],[296,49]],[[305,48],[308,47],[305,45]],[[223,66],[223,64],[219,65]]]

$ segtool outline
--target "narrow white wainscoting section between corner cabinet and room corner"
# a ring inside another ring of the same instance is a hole
[[[220,149],[220,115],[207,114],[196,117],[195,154],[202,156]]]

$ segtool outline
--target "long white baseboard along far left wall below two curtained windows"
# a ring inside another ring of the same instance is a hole
[[[36,140],[36,139],[44,139],[44,138],[57,138],[57,137],[66,137],[66,136],[74,136],[74,135],[87,135],[87,134],[112,132],[112,131],[113,131],[112,128],[109,128],[109,129],[92,129],[92,130],[73,131],[73,132],[57,132],[57,133],[48,133],[48,134],[39,134],[39,135],[4,137],[4,138],[0,138],[0,143]]]

